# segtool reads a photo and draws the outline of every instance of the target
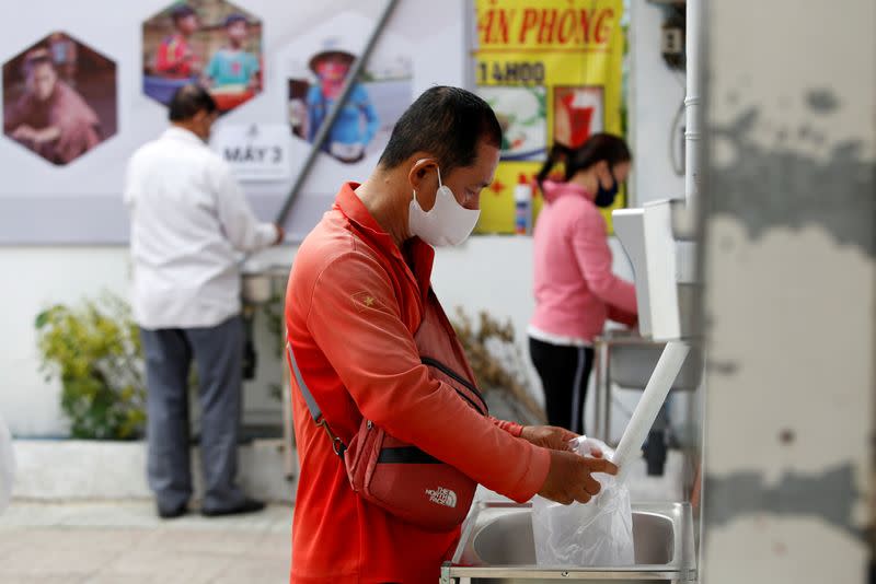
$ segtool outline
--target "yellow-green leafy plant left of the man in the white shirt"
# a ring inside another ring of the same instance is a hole
[[[134,439],[146,421],[142,349],[130,307],[103,294],[78,307],[56,304],[36,317],[46,379],[60,377],[71,435]]]

